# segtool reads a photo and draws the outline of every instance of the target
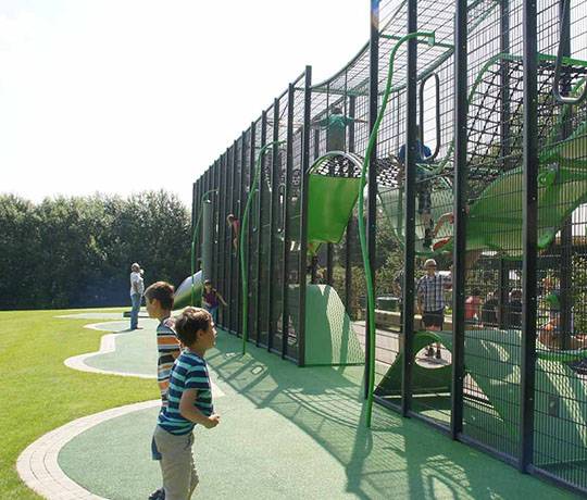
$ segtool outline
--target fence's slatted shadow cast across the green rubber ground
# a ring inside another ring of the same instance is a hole
[[[347,491],[358,498],[573,498],[378,405],[366,429],[360,366],[299,368],[248,349],[242,357],[239,339],[221,333],[209,363],[235,392],[319,442],[345,467]]]

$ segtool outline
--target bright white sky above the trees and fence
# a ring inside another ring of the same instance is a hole
[[[0,0],[0,192],[176,192],[307,64],[369,39],[360,0]]]

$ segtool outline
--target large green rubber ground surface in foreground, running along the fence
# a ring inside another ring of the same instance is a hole
[[[575,498],[380,407],[365,429],[362,367],[299,368],[240,349],[220,333],[208,357],[225,396],[214,401],[221,425],[195,432],[195,498]],[[80,434],[61,451],[61,467],[96,495],[146,498],[160,485],[150,459],[155,415],[146,410]]]

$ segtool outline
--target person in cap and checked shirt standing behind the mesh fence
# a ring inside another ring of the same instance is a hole
[[[417,282],[417,311],[422,315],[422,324],[429,332],[440,332],[445,323],[445,290],[452,287],[450,276],[436,272],[436,261],[427,259],[424,263],[426,274]],[[434,355],[432,346],[426,351],[427,357]],[[440,359],[440,343],[436,343],[436,359]]]

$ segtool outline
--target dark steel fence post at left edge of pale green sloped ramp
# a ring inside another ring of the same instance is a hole
[[[298,318],[298,365],[305,365],[305,265],[308,260],[308,171],[310,168],[310,116],[312,113],[312,66],[305,66],[303,82],[303,136],[301,172],[301,213],[300,213],[300,261],[298,275],[300,282]]]

